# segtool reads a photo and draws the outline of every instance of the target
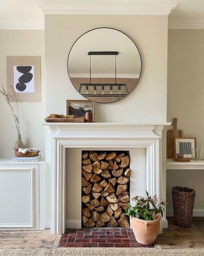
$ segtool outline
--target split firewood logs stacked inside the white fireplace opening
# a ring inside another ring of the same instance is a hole
[[[127,227],[130,157],[127,152],[83,152],[83,227]]]

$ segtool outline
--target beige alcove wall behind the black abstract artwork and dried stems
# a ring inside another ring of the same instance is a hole
[[[6,56],[41,56],[41,102],[20,102],[19,120],[25,147],[38,147],[45,156],[45,131],[41,125],[45,116],[45,72],[43,30],[0,30],[0,87],[6,83]],[[2,89],[2,88],[1,88]],[[1,90],[0,89],[0,90]],[[12,103],[15,109],[15,105]],[[0,95],[0,157],[12,157],[17,132],[11,110]]]

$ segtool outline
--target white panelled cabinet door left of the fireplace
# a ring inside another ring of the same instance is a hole
[[[38,166],[0,168],[0,228],[38,229]]]

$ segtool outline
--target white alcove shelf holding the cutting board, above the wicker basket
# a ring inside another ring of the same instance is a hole
[[[166,170],[204,170],[204,160],[191,160],[187,163],[167,159]]]

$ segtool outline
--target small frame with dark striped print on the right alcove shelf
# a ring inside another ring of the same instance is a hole
[[[196,148],[196,138],[174,138],[175,156],[184,154],[183,158],[192,158],[192,148]]]

